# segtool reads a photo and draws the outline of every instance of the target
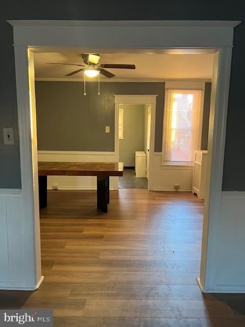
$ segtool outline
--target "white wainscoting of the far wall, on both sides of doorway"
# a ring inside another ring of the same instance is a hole
[[[193,167],[173,167],[161,165],[161,152],[154,154],[153,190],[175,191],[174,184],[180,184],[180,191],[191,191]],[[38,161],[64,162],[112,162],[114,152],[83,151],[38,151]],[[48,176],[47,188],[58,184],[60,190],[96,190],[94,176]],[[110,177],[110,189],[114,190],[114,178]]]

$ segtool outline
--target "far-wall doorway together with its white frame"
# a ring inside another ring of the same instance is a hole
[[[115,177],[115,189],[118,189],[119,186],[119,188],[122,189],[146,188],[148,190],[152,190],[157,95],[114,95],[114,97],[115,161],[122,160],[122,162],[124,162],[124,159],[127,160],[126,165],[124,163],[124,166],[126,166],[125,179],[121,179],[120,185],[118,185],[118,177]],[[125,108],[127,112],[126,119]],[[133,136],[133,127],[125,126],[127,121],[130,123],[132,122],[132,119],[130,121],[130,118],[132,118],[132,113],[134,113],[135,120],[134,128],[137,128],[137,131],[141,134],[141,137],[138,138],[136,145],[131,148],[129,153],[129,151],[127,151],[127,141],[125,145],[124,139],[120,137],[124,137],[125,131],[126,133],[129,131],[129,137]],[[139,146],[139,148],[137,148],[137,146]],[[129,167],[129,171],[127,167]]]

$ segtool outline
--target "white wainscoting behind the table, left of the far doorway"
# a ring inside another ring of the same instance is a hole
[[[38,151],[38,161],[114,162],[114,152]],[[47,188],[58,185],[59,190],[96,190],[95,176],[48,176]],[[110,190],[114,190],[114,177],[110,177]]]

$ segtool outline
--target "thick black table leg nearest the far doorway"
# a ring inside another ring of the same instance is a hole
[[[104,213],[107,213],[109,198],[109,176],[97,176],[97,208]]]

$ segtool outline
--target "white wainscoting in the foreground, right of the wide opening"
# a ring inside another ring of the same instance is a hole
[[[216,242],[216,292],[245,293],[245,192],[222,192]]]

